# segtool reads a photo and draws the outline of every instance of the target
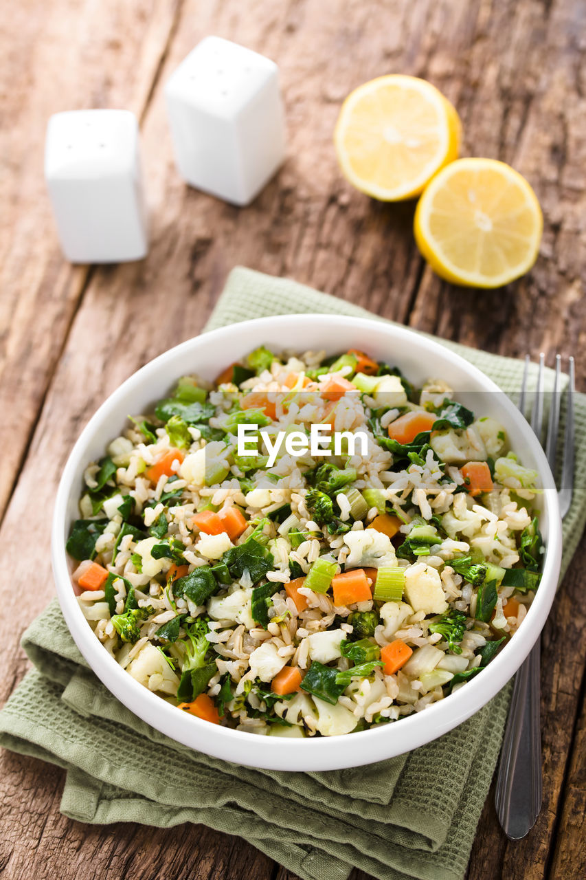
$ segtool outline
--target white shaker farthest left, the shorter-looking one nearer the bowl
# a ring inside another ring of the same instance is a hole
[[[72,110],[51,116],[45,178],[68,260],[115,263],[145,256],[147,219],[134,114]]]

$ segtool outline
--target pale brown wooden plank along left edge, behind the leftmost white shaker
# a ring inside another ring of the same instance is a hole
[[[89,277],[57,243],[42,177],[48,117],[95,106],[140,116],[178,3],[26,0],[0,25],[0,517]]]

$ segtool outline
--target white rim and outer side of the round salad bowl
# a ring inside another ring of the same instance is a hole
[[[467,362],[464,357],[447,346],[443,346],[440,341],[431,339],[411,328],[387,323],[380,319],[351,318],[343,315],[312,312],[311,315],[309,313],[271,315],[265,318],[241,321],[194,336],[167,349],[136,370],[104,400],[77,438],[63,468],[55,497],[51,531],[51,558],[55,588],[63,617],[70,628],[77,648],[92,671],[126,708],[141,718],[143,722],[194,750],[231,763],[264,769],[283,769],[285,763],[293,764],[294,767],[291,769],[299,772],[362,766],[409,752],[443,736],[444,733],[454,729],[479,711],[488,700],[491,700],[502,689],[509,678],[512,678],[537,641],[553,603],[561,562],[561,520],[557,492],[554,488],[545,488],[541,513],[547,526],[543,576],[536,598],[524,619],[524,630],[520,630],[504,646],[501,653],[494,657],[485,674],[472,678],[465,687],[443,700],[431,704],[424,712],[400,718],[399,725],[393,722],[381,725],[379,729],[370,728],[353,733],[351,737],[306,737],[304,739],[262,737],[221,725],[214,725],[210,728],[209,722],[201,721],[194,715],[179,714],[176,707],[161,699],[156,693],[150,692],[136,679],[128,675],[128,672],[123,670],[114,657],[106,651],[85,620],[77,603],[67,563],[68,557],[63,541],[63,535],[66,533],[65,527],[70,524],[67,508],[71,493],[78,491],[74,480],[77,469],[86,454],[86,446],[91,442],[92,436],[99,429],[108,412],[115,407],[119,400],[123,400],[128,393],[142,387],[145,380],[148,380],[166,362],[192,354],[199,341],[212,339],[219,344],[229,340],[235,332],[245,334],[247,328],[254,331],[257,329],[266,330],[267,334],[276,331],[278,334],[282,332],[283,325],[286,326],[309,317],[318,321],[326,319],[329,332],[335,330],[336,326],[351,327],[356,331],[376,328],[377,332],[388,334],[390,339],[394,337],[402,341],[415,342],[426,349],[426,353],[429,353],[430,356],[434,354],[441,356],[444,360],[451,362],[451,365],[456,369],[465,371],[476,384],[481,386],[483,392],[500,392],[499,406],[505,410],[509,419],[517,422],[519,427],[525,421],[523,415],[502,392],[502,389],[479,368]],[[542,483],[553,487],[553,478],[545,452],[542,450],[538,438],[531,431],[529,424],[526,424],[526,442],[532,457],[538,463],[538,473],[542,478]],[[524,428],[522,429],[524,430]],[[544,479],[547,477],[549,480]],[[523,634],[523,636],[519,638],[519,634]],[[420,720],[421,718],[423,721]],[[365,740],[364,737],[369,738]],[[238,743],[241,745],[241,750],[238,749]],[[368,744],[370,748],[365,750],[364,744]],[[242,751],[243,754],[239,755],[239,751]]]

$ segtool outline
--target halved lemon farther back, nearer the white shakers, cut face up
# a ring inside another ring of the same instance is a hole
[[[384,202],[419,195],[458,157],[460,121],[435,85],[392,74],[348,95],[333,135],[344,177]]]

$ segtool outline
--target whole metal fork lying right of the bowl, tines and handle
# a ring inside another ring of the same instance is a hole
[[[519,409],[524,414],[528,397],[529,355],[525,358]],[[561,469],[560,514],[565,517],[574,487],[574,358],[569,358],[568,409]],[[535,399],[531,407],[531,429],[541,440],[545,355],[539,356]],[[546,458],[555,479],[558,431],[560,429],[561,357],[555,358],[555,380],[546,435]],[[494,805],[502,830],[509,840],[521,840],[535,825],[542,801],[541,730],[539,719],[540,637],[516,673],[509,717],[502,741],[501,761],[496,777]]]

